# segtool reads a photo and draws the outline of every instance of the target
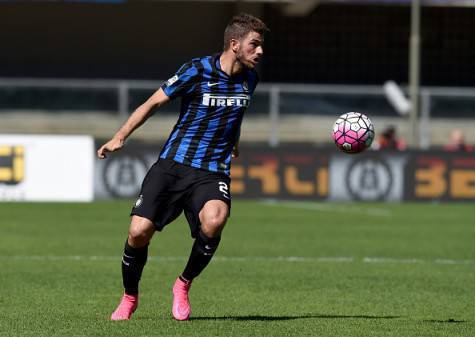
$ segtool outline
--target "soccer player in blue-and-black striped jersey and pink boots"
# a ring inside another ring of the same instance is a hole
[[[132,208],[122,259],[124,295],[112,320],[130,319],[138,305],[138,285],[148,244],[184,211],[195,238],[183,273],[173,286],[172,314],[187,320],[191,283],[218,248],[231,206],[230,163],[238,155],[241,121],[258,82],[254,70],[263,55],[266,25],[249,14],[231,19],[224,31],[224,51],[183,65],[139,106],[97,151],[116,151],[154,108],[181,97],[178,121],[159,159],[148,171]]]

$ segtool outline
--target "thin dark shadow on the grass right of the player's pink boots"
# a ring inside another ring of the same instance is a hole
[[[209,317],[190,317],[190,321],[290,321],[296,319],[396,319],[401,316],[373,316],[373,315],[295,315],[295,316],[265,316],[265,315],[248,315],[248,316],[209,316]]]

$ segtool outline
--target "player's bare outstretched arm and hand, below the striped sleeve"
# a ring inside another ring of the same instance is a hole
[[[150,98],[140,105],[117,131],[117,133],[107,143],[102,145],[97,150],[97,156],[101,159],[106,158],[107,152],[114,152],[124,146],[125,140],[141,126],[148,117],[152,110],[157,109],[167,103],[170,98],[165,94],[162,88],[158,89]]]

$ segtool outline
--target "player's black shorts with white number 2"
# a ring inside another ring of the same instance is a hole
[[[191,236],[196,237],[201,226],[198,215],[207,201],[222,200],[231,209],[230,182],[222,173],[159,159],[145,176],[130,215],[149,219],[160,231],[184,211]]]

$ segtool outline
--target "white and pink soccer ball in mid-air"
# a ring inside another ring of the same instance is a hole
[[[336,120],[332,138],[336,146],[346,153],[359,153],[371,146],[374,127],[370,119],[359,112],[348,112]]]

